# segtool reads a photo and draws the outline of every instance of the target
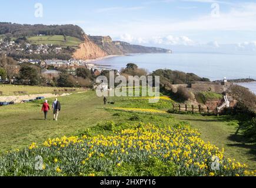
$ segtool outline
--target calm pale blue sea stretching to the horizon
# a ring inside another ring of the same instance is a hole
[[[139,53],[94,61],[108,68],[125,68],[135,63],[139,68],[152,72],[157,69],[179,70],[195,73],[210,80],[252,78],[256,80],[256,55],[226,53]],[[256,94],[256,82],[238,83]]]

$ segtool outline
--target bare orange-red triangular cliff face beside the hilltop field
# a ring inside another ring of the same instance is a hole
[[[77,51],[74,52],[75,59],[97,59],[103,58],[108,54],[103,51],[97,44],[92,42],[87,35],[84,35],[84,42],[79,45]]]

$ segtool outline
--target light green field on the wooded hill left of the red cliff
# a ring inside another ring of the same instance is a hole
[[[52,35],[52,36],[31,36],[28,38],[28,41],[36,45],[45,44],[45,45],[59,45],[59,46],[73,46],[78,47],[82,41],[78,38],[72,36],[63,35]]]

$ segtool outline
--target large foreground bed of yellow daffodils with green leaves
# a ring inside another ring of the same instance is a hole
[[[41,169],[35,170],[35,157]],[[212,169],[218,158],[218,169]],[[147,165],[144,165],[147,164]],[[205,143],[197,130],[142,125],[112,136],[62,137],[0,157],[1,176],[244,176],[245,164]]]

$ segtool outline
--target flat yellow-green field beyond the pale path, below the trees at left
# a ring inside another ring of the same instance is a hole
[[[2,92],[3,96],[8,95],[31,95],[31,94],[40,94],[40,93],[56,93],[56,92],[65,92],[73,88],[55,88],[55,87],[39,87],[39,86],[24,86],[24,85],[0,85],[0,93]],[[81,88],[74,88],[77,91],[82,91]]]

